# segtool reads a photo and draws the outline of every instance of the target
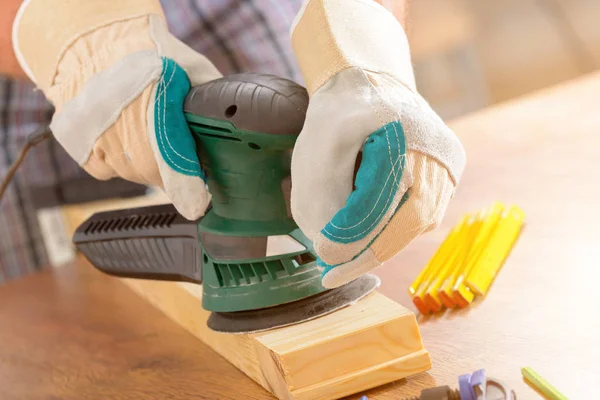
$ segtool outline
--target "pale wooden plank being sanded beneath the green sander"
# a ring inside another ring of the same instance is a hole
[[[280,399],[340,398],[431,367],[415,315],[377,292],[312,321],[232,335],[206,326],[200,285],[123,281]]]

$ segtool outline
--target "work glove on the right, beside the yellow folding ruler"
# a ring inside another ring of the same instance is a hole
[[[306,1],[292,44],[310,96],[292,213],[333,288],[440,223],[465,154],[416,90],[402,26],[375,1]]]

